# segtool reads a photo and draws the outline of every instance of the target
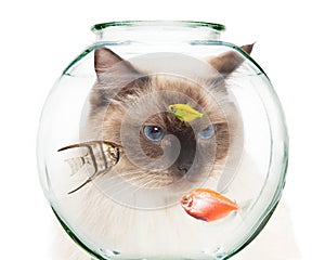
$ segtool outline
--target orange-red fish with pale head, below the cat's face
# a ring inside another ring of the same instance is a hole
[[[186,213],[207,222],[221,219],[239,209],[236,203],[209,188],[196,188],[185,194],[181,205]]]

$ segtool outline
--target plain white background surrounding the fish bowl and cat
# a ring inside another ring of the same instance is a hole
[[[64,67],[93,42],[90,26],[122,20],[216,22],[226,25],[226,41],[257,41],[252,57],[271,78],[287,116],[290,158],[284,196],[301,259],[324,259],[324,2],[316,0],[2,1],[1,259],[49,259],[53,214],[36,167],[41,108]]]

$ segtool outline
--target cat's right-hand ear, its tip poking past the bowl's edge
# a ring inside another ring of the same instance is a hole
[[[248,54],[251,53],[253,43],[240,47],[243,51],[247,52]],[[244,62],[243,56],[240,56],[235,51],[227,51],[222,53],[218,56],[212,57],[209,63],[216,68],[220,74],[224,77],[229,76],[233,73],[240,64]]]

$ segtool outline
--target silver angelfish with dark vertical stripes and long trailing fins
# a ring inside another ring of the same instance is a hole
[[[68,194],[77,192],[96,177],[107,172],[119,161],[122,152],[120,145],[106,141],[90,141],[72,144],[60,148],[57,152],[81,147],[87,148],[86,155],[66,159],[66,162],[69,164],[73,174],[78,172],[84,165],[91,165],[94,171],[81,185],[68,192]]]

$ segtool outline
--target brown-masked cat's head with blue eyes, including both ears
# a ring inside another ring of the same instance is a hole
[[[98,81],[89,126],[96,139],[123,147],[116,174],[140,187],[177,186],[220,174],[231,142],[240,134],[224,79],[242,61],[227,52],[209,63],[219,74],[194,82],[148,76],[108,49],[95,50]],[[173,104],[188,104],[204,116],[180,120],[168,109]]]

